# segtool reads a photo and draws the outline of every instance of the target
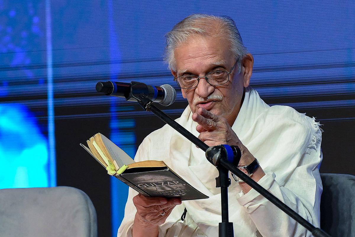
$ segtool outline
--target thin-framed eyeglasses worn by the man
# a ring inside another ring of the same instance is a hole
[[[212,86],[219,86],[226,84],[229,81],[229,75],[231,74],[232,70],[234,69],[235,64],[238,60],[234,63],[233,67],[228,71],[213,71],[206,73],[205,76],[196,76],[196,75],[183,75],[174,78],[174,81],[178,84],[178,86],[182,89],[191,89],[195,88],[198,85],[198,82],[201,78],[204,78],[208,84]]]

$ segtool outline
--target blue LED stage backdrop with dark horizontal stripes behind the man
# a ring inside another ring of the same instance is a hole
[[[187,103],[163,62],[164,34],[194,13],[235,20],[255,58],[251,85],[268,103],[311,112],[325,126],[354,126],[354,1],[3,0],[0,10],[0,188],[56,185],[65,175],[55,167],[56,152],[66,149],[65,142],[56,143],[64,131],[55,122],[63,119],[70,126],[107,118],[105,135],[135,155],[157,128],[155,120],[133,102],[97,95],[100,80],[171,84],[178,98],[164,110],[181,114]],[[96,126],[87,130],[100,132]],[[349,141],[334,134],[336,147]],[[110,187],[111,200],[101,201],[111,202],[110,232],[116,236],[128,188],[114,178]]]

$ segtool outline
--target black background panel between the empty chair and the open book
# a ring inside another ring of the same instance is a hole
[[[100,110],[108,110],[107,107]],[[69,112],[56,110],[57,114]],[[78,111],[77,111],[78,112]],[[83,190],[97,212],[99,236],[111,235],[110,176],[79,144],[100,131],[109,134],[109,117],[55,120],[57,185]]]

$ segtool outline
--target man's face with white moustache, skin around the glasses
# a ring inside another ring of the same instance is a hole
[[[229,49],[229,42],[222,38],[193,36],[178,47],[175,52],[176,72],[174,77],[182,75],[204,76],[208,72],[223,70],[229,72],[236,60]],[[243,64],[242,64],[243,65]],[[212,86],[201,78],[197,87],[181,89],[191,111],[204,108],[224,117],[228,123],[234,123],[241,107],[243,87],[249,86],[250,76],[244,76],[244,67],[238,74],[238,65],[234,66],[226,84]],[[251,75],[251,74],[250,74]]]

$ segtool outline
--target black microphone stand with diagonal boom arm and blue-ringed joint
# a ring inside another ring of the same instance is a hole
[[[158,118],[162,119],[165,123],[169,124],[172,128],[178,131],[181,135],[185,136],[185,138],[189,139],[193,144],[198,146],[204,152],[206,152],[206,158],[209,162],[211,162],[214,166],[217,167],[219,172],[219,177],[216,178],[216,187],[221,188],[221,207],[222,207],[222,222],[219,223],[219,236],[220,237],[233,237],[233,223],[228,220],[228,187],[230,185],[230,179],[228,178],[228,170],[233,172],[236,176],[242,179],[245,183],[250,185],[253,189],[255,189],[258,193],[263,195],[266,199],[271,201],[274,205],[276,205],[279,209],[284,211],[287,215],[293,218],[295,221],[304,226],[307,230],[309,230],[313,236],[315,237],[331,237],[326,232],[321,230],[320,228],[316,228],[311,223],[306,221],[302,216],[297,214],[294,210],[289,208],[286,204],[276,198],[273,194],[268,192],[266,189],[261,187],[257,182],[247,176],[245,173],[240,171],[236,165],[240,160],[240,150],[236,146],[228,146],[228,145],[220,145],[209,147],[200,139],[196,138],[192,133],[187,131],[180,124],[175,122],[172,118],[162,112],[160,109],[154,106],[153,101],[148,99],[142,94],[134,95],[134,91],[131,91],[133,97],[137,99],[138,104],[145,110],[150,111],[153,114],[157,115]],[[226,149],[230,147],[233,148],[233,155],[230,152],[226,151]],[[238,152],[239,150],[239,152]],[[229,154],[227,154],[229,153]],[[234,164],[233,164],[234,163]]]

